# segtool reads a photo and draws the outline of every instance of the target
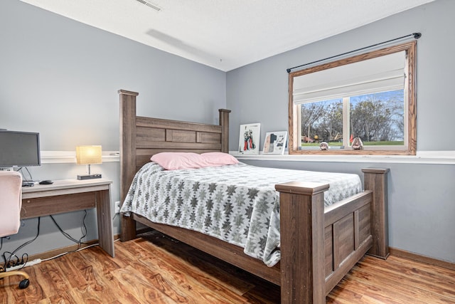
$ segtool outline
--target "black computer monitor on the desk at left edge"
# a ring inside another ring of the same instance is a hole
[[[0,130],[0,168],[40,164],[39,133]]]

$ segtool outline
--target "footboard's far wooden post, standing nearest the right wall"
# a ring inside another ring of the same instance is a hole
[[[387,172],[389,169],[364,168],[365,190],[373,191],[371,203],[371,235],[373,246],[368,251],[371,256],[386,259],[389,256],[389,231],[387,214]]]

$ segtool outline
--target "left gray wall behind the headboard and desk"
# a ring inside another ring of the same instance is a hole
[[[0,128],[40,132],[43,151],[74,152],[77,145],[119,150],[119,89],[139,92],[138,115],[218,123],[218,108],[225,108],[220,70],[18,0],[0,1],[0,28]],[[114,181],[113,205],[119,200],[119,163],[92,168]],[[85,172],[76,164],[30,169],[33,179],[74,179]],[[79,239],[82,216],[83,211],[56,219]],[[32,239],[36,223],[24,221],[2,252]],[[86,224],[87,240],[96,239],[94,210]],[[118,233],[118,218],[114,225]],[[19,254],[70,244],[47,217],[38,239]]]

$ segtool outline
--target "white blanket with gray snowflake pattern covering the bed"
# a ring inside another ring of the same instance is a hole
[[[356,174],[310,172],[231,164],[165,170],[149,162],[137,172],[122,212],[179,226],[244,248],[274,266],[279,251],[279,193],[283,182],[323,182],[328,206],[362,191]]]

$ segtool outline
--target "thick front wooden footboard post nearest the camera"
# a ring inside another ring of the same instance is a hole
[[[324,197],[328,184],[289,182],[279,192],[281,303],[326,303]]]

